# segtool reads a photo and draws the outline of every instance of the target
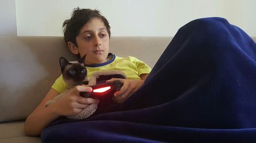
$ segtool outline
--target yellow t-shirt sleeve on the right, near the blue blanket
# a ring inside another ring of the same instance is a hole
[[[145,64],[144,62],[140,61],[139,59],[135,58],[135,57],[131,57],[133,63],[136,65],[138,71],[139,71],[139,75],[141,74],[149,74],[151,72],[151,68],[150,66],[148,66],[147,64]]]

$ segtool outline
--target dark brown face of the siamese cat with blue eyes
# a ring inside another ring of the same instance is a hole
[[[61,73],[66,84],[78,84],[87,81],[87,69],[85,67],[84,55],[79,61],[68,62],[65,58],[59,59]]]

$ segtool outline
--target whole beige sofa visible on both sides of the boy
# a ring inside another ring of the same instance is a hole
[[[110,52],[153,67],[171,39],[112,37]],[[24,121],[60,75],[59,57],[75,56],[63,37],[0,37],[0,48],[0,142],[41,142],[25,136]]]

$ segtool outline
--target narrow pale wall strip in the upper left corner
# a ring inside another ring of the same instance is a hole
[[[15,0],[0,0],[0,36],[16,36]]]

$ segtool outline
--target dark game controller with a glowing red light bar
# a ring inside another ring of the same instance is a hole
[[[92,92],[80,92],[82,97],[101,98],[120,91],[123,83],[119,80],[91,85]]]

